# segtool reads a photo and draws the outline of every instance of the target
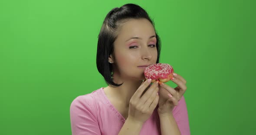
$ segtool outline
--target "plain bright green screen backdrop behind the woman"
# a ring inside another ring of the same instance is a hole
[[[254,134],[254,0],[9,0],[0,2],[0,135],[71,135],[72,100],[106,87],[97,36],[125,3],[148,11],[160,62],[187,80],[191,135]]]

